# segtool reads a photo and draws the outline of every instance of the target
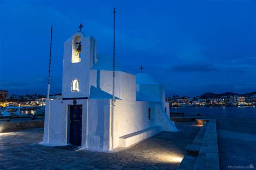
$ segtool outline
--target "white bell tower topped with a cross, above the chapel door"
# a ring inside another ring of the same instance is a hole
[[[96,40],[84,36],[80,24],[77,33],[64,43],[62,98],[86,98],[90,95],[90,68],[97,62]]]

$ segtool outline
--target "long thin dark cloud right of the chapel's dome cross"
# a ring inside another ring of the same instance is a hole
[[[218,71],[212,64],[185,64],[174,65],[171,67],[171,71],[175,72],[211,72]]]

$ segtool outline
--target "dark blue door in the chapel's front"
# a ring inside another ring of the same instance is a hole
[[[69,142],[81,145],[82,142],[82,105],[70,106]]]

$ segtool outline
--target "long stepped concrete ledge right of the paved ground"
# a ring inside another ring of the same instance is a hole
[[[186,155],[178,169],[219,169],[219,149],[216,120],[200,119],[203,124],[191,145],[187,145]]]

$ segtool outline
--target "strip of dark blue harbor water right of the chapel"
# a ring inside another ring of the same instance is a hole
[[[211,117],[256,118],[256,107],[170,107],[170,112]]]

